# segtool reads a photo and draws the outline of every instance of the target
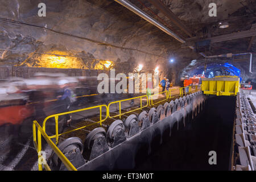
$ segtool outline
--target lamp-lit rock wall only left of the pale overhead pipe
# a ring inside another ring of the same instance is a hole
[[[1,65],[97,69],[109,60],[109,68],[120,72],[143,64],[143,71],[159,67],[161,77],[175,80],[176,69],[167,63],[169,45],[176,40],[124,7],[113,1],[43,1],[46,17],[39,17],[40,2],[1,2],[0,48],[24,51],[1,50]],[[120,8],[126,14],[114,12]]]

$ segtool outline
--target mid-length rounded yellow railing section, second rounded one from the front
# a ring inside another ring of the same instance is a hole
[[[145,105],[145,106],[142,106],[142,97],[146,97],[146,98],[147,98],[147,105]],[[137,108],[137,109],[134,109],[134,110],[126,111],[125,113],[121,113],[121,102],[134,100],[134,99],[136,99],[136,98],[140,98],[140,99],[141,99],[141,107],[139,107],[139,108]],[[115,104],[115,103],[119,103],[119,114],[114,115],[114,116],[111,116],[111,115],[110,115],[110,105]],[[127,98],[127,99],[125,99],[125,100],[120,100],[120,101],[110,102],[109,105],[108,105],[108,117],[109,117],[109,118],[115,118],[115,117],[118,117],[118,116],[119,116],[119,118],[121,118],[121,116],[122,116],[123,114],[131,113],[131,112],[133,112],[133,111],[135,111],[135,110],[139,110],[139,109],[142,110],[144,107],[147,107],[147,106],[148,106],[148,97],[147,97],[147,95],[145,95],[145,96],[139,96],[139,97],[133,97],[133,98]]]

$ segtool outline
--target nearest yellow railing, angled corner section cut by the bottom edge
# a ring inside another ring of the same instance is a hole
[[[38,128],[38,140],[36,140],[36,127]],[[36,151],[38,151],[38,169],[39,171],[43,170],[42,164],[39,162],[40,159],[43,159],[43,165],[46,168],[47,171],[50,171],[46,159],[43,158],[42,155],[40,155],[40,151],[42,151],[42,140],[41,135],[43,135],[46,142],[51,146],[52,150],[55,152],[55,154],[60,158],[61,162],[67,167],[69,171],[77,171],[77,169],[73,166],[73,164],[66,158],[66,156],[59,150],[59,148],[52,142],[51,138],[48,137],[46,132],[42,129],[42,127],[39,125],[37,121],[33,121],[33,141],[34,146],[36,148]]]

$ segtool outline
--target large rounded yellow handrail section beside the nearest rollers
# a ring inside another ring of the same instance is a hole
[[[106,117],[104,119],[102,119],[102,107],[106,107]],[[77,128],[77,129],[74,129],[74,130],[69,130],[65,133],[61,133],[59,134],[59,116],[60,115],[65,115],[65,114],[71,114],[71,113],[77,113],[77,112],[80,112],[80,111],[84,111],[84,110],[89,110],[89,109],[95,109],[95,108],[100,108],[100,121],[98,122],[95,122],[95,123],[92,123],[90,125],[86,125],[86,126],[82,126],[80,128]],[[72,131],[76,131],[76,130],[80,130],[80,129],[83,129],[85,127],[88,127],[88,126],[91,126],[91,125],[95,125],[96,123],[100,123],[100,125],[102,126],[102,122],[104,122],[107,118],[108,118],[108,106],[106,105],[98,105],[98,106],[92,106],[92,107],[86,107],[84,109],[77,109],[77,110],[72,110],[72,111],[68,111],[68,112],[64,112],[64,113],[59,113],[59,114],[52,114],[52,115],[49,115],[48,117],[46,117],[43,121],[43,130],[46,132],[46,122],[48,121],[49,118],[55,118],[55,135],[52,135],[52,136],[48,136],[49,138],[56,138],[56,144],[59,142],[59,136],[60,135],[63,135],[63,134],[67,134],[67,133],[71,133]]]

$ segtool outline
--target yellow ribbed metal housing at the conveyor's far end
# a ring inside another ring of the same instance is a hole
[[[236,96],[240,88],[240,78],[237,76],[216,76],[202,78],[202,91],[204,94],[216,96]]]

